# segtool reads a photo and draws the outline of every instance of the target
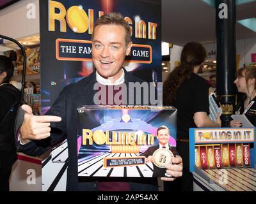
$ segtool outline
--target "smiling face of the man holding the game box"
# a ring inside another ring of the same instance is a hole
[[[99,25],[92,40],[92,59],[101,77],[115,82],[122,75],[125,55],[129,55],[132,43],[125,45],[125,29],[121,25]]]

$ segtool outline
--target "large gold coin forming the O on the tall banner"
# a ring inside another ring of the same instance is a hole
[[[67,22],[76,33],[84,33],[89,26],[88,15],[81,6],[72,6],[67,10]]]

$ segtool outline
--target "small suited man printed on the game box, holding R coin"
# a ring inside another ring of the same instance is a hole
[[[148,147],[148,149],[145,152],[143,152],[143,154],[140,155],[140,156],[146,157],[146,162],[153,163],[153,166],[154,166],[153,177],[157,177],[165,173],[164,168],[159,168],[154,164],[154,157],[152,156],[154,152],[157,149],[169,149],[173,152],[174,155],[176,154],[176,148],[169,144],[169,138],[170,138],[169,129],[166,126],[160,126],[159,128],[157,128],[157,140],[159,141],[159,145]],[[166,173],[168,172],[169,170],[166,171]]]

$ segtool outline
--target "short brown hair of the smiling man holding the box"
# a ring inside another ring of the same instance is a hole
[[[121,13],[108,13],[106,15],[102,15],[102,17],[98,18],[95,22],[93,33],[95,28],[100,25],[120,25],[125,29],[125,44],[128,45],[131,42],[131,29],[129,24],[124,20],[124,17]],[[93,40],[92,33],[92,40]]]

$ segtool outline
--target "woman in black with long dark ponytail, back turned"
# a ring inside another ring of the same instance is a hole
[[[170,73],[163,85],[163,104],[173,105],[178,110],[177,151],[183,159],[183,175],[173,184],[166,184],[173,186],[175,191],[193,191],[193,175],[189,173],[189,128],[221,126],[220,117],[212,122],[207,116],[209,86],[204,78],[196,75],[205,57],[202,44],[187,43],[181,53],[180,65]]]

